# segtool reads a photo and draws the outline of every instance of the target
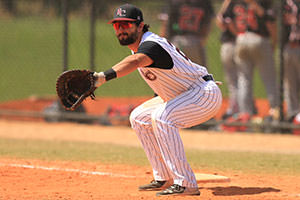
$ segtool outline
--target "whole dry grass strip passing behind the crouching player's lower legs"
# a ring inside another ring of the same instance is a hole
[[[300,157],[296,154],[200,151],[193,149],[187,149],[186,154],[189,163],[195,169],[300,175]],[[1,138],[0,156],[149,165],[141,148],[104,143]]]

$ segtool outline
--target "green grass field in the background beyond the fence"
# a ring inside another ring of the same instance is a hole
[[[152,13],[150,13],[152,14]],[[150,15],[148,14],[148,15]],[[156,14],[153,14],[156,15]],[[148,16],[149,17],[149,16]],[[150,16],[150,30],[158,33],[160,23]],[[72,17],[69,25],[69,69],[89,68],[89,20]],[[62,72],[62,19],[24,17],[0,19],[0,96],[1,101],[27,98],[31,95],[55,95],[55,82]],[[213,26],[207,44],[210,72],[227,96],[219,55],[219,29]],[[106,20],[96,22],[96,70],[110,68],[130,54],[121,47]],[[265,97],[264,87],[255,77],[254,93]],[[99,96],[149,96],[151,89],[137,72],[111,81],[96,91]]]

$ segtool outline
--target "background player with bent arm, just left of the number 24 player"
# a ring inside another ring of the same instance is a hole
[[[241,26],[243,21],[240,20],[240,14],[238,10],[245,7],[243,0],[224,0],[216,17],[216,24],[221,29],[221,48],[220,56],[221,62],[224,67],[225,79],[228,85],[229,91],[229,105],[222,116],[223,119],[227,119],[234,114],[239,113],[238,106],[238,71],[239,68],[234,60],[235,41],[238,35],[238,26]],[[246,26],[246,22],[244,22]],[[252,101],[251,114],[256,114],[257,110]]]

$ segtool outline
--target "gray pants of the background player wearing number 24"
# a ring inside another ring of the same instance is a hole
[[[253,74],[257,67],[265,85],[271,108],[278,107],[278,86],[273,49],[269,38],[246,32],[236,40],[235,61],[239,67],[239,108],[241,112],[253,112]]]

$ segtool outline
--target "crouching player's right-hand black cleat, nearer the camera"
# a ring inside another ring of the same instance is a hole
[[[163,195],[200,195],[198,188],[187,188],[177,184],[171,185],[169,188],[156,193],[156,196]]]

